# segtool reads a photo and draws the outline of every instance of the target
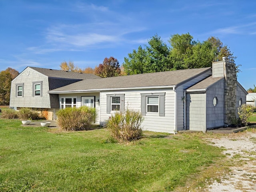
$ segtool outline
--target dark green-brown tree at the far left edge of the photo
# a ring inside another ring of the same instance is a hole
[[[9,71],[0,72],[0,105],[10,104],[12,74]]]

